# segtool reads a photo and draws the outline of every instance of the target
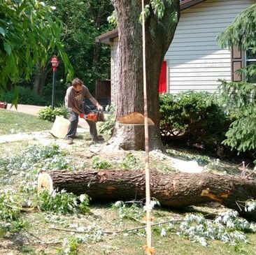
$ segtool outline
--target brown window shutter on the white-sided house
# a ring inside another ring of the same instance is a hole
[[[234,45],[232,48],[232,82],[241,82],[242,75],[236,73],[236,70],[243,67],[243,51],[240,45]]]

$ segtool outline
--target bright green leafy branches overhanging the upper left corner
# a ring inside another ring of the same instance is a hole
[[[57,50],[64,61],[67,78],[73,76],[73,68],[59,39],[62,26],[53,18],[53,10],[42,1],[1,1],[1,90],[10,83],[29,80],[38,60],[41,64],[47,63],[49,51]],[[17,103],[17,96],[15,99]]]

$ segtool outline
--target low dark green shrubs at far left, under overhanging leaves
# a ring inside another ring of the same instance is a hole
[[[24,105],[46,105],[47,102],[41,96],[31,91],[26,87],[17,87],[18,103]],[[0,101],[12,103],[14,99],[14,90],[3,93],[0,97]]]

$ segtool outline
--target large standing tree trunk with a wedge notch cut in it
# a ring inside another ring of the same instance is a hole
[[[118,79],[114,84],[117,92],[114,103],[116,118],[119,119],[131,112],[144,112],[142,27],[139,22],[141,1],[111,1],[118,17]],[[144,2],[146,5],[150,1]],[[148,117],[155,122],[155,126],[149,130],[150,150],[163,149],[159,131],[159,72],[180,16],[179,0],[165,5],[162,20],[150,8],[150,16],[145,22]],[[125,150],[144,149],[143,126],[116,124],[113,136],[113,147]]]

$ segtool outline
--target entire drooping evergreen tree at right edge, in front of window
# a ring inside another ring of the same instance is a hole
[[[241,45],[245,51],[256,53],[256,4],[240,13],[232,25],[218,36],[222,48]],[[247,81],[256,82],[256,65],[249,64],[241,68]],[[222,81],[220,100],[227,105],[229,111],[236,117],[226,133],[224,141],[239,152],[252,152],[256,158],[256,85],[252,82]]]

